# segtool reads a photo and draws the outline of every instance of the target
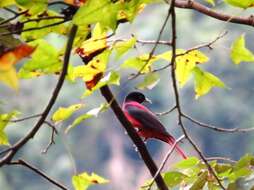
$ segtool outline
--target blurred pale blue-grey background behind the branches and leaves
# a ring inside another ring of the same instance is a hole
[[[250,15],[251,11],[241,11],[232,7],[226,7],[223,2],[219,2],[215,7],[218,11],[227,12],[232,15]],[[132,24],[121,24],[117,30],[117,38],[130,38],[134,34],[137,39],[155,40],[166,17],[168,7],[164,4],[154,4],[147,6],[144,11],[134,20]],[[253,9],[252,9],[253,11]],[[1,12],[1,11],[0,11]],[[1,12],[6,16],[5,12]],[[8,16],[8,15],[7,15]],[[251,35],[251,27],[220,22],[215,19],[203,16],[191,10],[177,9],[177,47],[191,48],[204,42],[210,42],[223,31],[229,33],[216,42],[213,50],[202,49],[210,57],[210,61],[202,67],[218,76],[228,88],[215,88],[209,94],[195,99],[193,80],[180,89],[180,97],[183,111],[199,121],[213,124],[223,128],[248,128],[253,127],[253,81],[254,66],[243,63],[234,65],[229,57],[230,46],[233,40],[244,33],[249,49],[254,50],[254,36]],[[46,36],[52,44],[61,47],[64,38],[50,34]],[[162,40],[170,40],[170,25],[162,36]],[[147,53],[152,49],[152,45],[137,45],[136,50],[128,52],[123,59],[115,61],[112,59],[109,68],[115,68],[126,58],[137,54]],[[158,46],[157,53],[168,50],[166,46]],[[73,64],[81,64],[79,58],[72,57]],[[161,67],[165,62],[155,64]],[[112,87],[119,102],[124,96],[134,90],[135,84],[142,81],[139,77],[133,81],[126,82],[128,75],[133,71],[120,71],[122,74],[120,87]],[[169,70],[160,73],[159,84],[151,91],[144,93],[153,101],[149,105],[154,112],[166,111],[174,105],[171,78]],[[41,113],[47,104],[52,90],[56,84],[57,77],[43,76],[33,80],[22,80],[21,89],[18,93],[13,92],[6,86],[0,84],[0,112],[6,113],[13,109],[23,113],[21,117]],[[85,99],[80,97],[84,93],[84,84],[65,82],[53,111],[59,106],[69,106],[74,103],[84,103],[85,108],[74,114],[67,122],[58,125],[59,135],[56,137],[56,144],[53,145],[47,154],[41,151],[47,146],[51,130],[45,126],[35,138],[23,147],[16,158],[23,158],[33,165],[45,171],[49,176],[64,183],[69,188],[71,176],[75,172],[95,172],[110,180],[110,183],[103,186],[94,186],[94,190],[132,190],[138,189],[146,179],[150,178],[149,171],[145,167],[140,156],[135,151],[135,147],[120,123],[111,110],[99,114],[97,118],[91,118],[81,123],[67,135],[64,129],[75,119],[89,109],[98,107],[104,102],[99,92]],[[50,118],[48,118],[50,119]],[[160,117],[167,127],[167,130],[176,138],[182,135],[177,126],[176,113]],[[23,137],[26,132],[33,127],[36,119],[10,124],[7,133],[11,143]],[[195,126],[185,120],[185,125],[192,138],[202,149],[207,157],[223,156],[231,159],[239,159],[247,152],[253,153],[254,138],[253,133],[227,134],[219,133],[209,129]],[[168,151],[167,144],[156,140],[149,140],[147,147],[157,164],[163,159]],[[181,147],[189,156],[195,156],[193,148],[186,141]],[[165,169],[170,169],[180,158],[173,154],[169,159]],[[8,166],[0,169],[0,189],[3,190],[45,190],[56,189],[40,176],[21,166]]]

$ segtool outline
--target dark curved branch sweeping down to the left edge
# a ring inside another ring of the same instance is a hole
[[[9,163],[14,155],[18,152],[20,148],[22,148],[30,139],[34,137],[34,135],[39,131],[41,128],[42,124],[45,122],[51,108],[53,107],[58,94],[63,86],[64,80],[65,80],[65,75],[67,74],[68,70],[68,65],[69,65],[69,59],[70,59],[70,54],[71,54],[71,49],[72,49],[72,44],[76,35],[78,27],[76,25],[73,25],[70,31],[69,35],[69,40],[67,42],[67,47],[65,50],[64,54],[64,61],[63,61],[63,68],[62,72],[59,76],[58,82],[56,84],[56,87],[53,91],[53,94],[49,100],[48,105],[46,106],[45,110],[43,111],[40,119],[38,122],[35,124],[35,126],[28,132],[28,134],[20,139],[18,142],[16,142],[12,147],[11,150],[6,154],[1,160],[0,160],[0,167],[2,167],[4,164]]]

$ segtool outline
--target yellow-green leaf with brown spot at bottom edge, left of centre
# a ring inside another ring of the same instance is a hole
[[[72,184],[75,190],[86,190],[89,186],[95,184],[105,184],[108,183],[109,180],[92,173],[89,175],[86,172],[83,172],[79,175],[72,176]]]

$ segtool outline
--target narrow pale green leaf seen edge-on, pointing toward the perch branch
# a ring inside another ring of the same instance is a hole
[[[85,121],[86,119],[89,119],[91,117],[97,117],[99,113],[106,111],[108,109],[108,104],[101,104],[97,108],[93,108],[90,111],[86,112],[85,114],[82,114],[81,116],[77,117],[70,126],[65,130],[65,133],[68,133],[70,129],[76,127],[81,122]]]

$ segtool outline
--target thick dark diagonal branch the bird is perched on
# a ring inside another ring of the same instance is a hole
[[[119,106],[118,102],[114,98],[114,95],[112,94],[111,90],[108,86],[103,86],[101,89],[101,94],[104,96],[104,98],[107,100],[107,102],[110,104],[111,109],[115,113],[115,116],[117,119],[121,122],[125,130],[127,131],[129,137],[137,147],[137,150],[139,151],[142,159],[144,160],[147,168],[149,169],[151,175],[154,177],[156,175],[156,172],[158,171],[158,168],[156,164],[154,163],[153,159],[151,158],[144,142],[141,140],[141,138],[138,136],[136,130],[133,128],[132,124],[129,122],[129,120],[125,117],[121,107]],[[160,173],[155,177],[155,182],[160,190],[168,190],[167,185],[165,184],[163,178],[161,177]]]

